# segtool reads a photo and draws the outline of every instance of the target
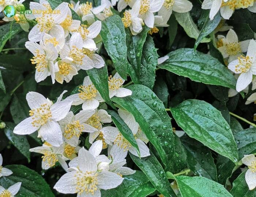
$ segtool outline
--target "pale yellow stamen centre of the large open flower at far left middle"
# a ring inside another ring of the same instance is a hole
[[[44,125],[52,117],[49,104],[43,104],[36,109],[29,110],[29,115],[32,116],[33,122],[31,124],[34,127]]]

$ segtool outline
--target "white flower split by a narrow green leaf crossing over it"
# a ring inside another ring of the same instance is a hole
[[[133,117],[133,115],[130,114],[128,111],[121,110],[121,109],[118,110],[118,114],[127,124],[127,126],[131,129],[133,135],[136,136],[136,142],[139,147],[140,157],[149,156],[150,155],[149,149],[145,144],[145,141],[148,142],[148,139],[142,131],[139,131],[140,130],[139,124],[135,121],[135,118]],[[127,156],[128,151],[131,154],[139,157],[136,149],[131,145],[130,142],[127,141],[127,139],[124,138],[124,136],[117,129],[112,130],[112,132],[105,134],[104,138],[105,140],[109,139],[110,141],[113,142],[113,146],[110,150],[110,155],[114,157],[113,158],[114,160],[116,161],[123,160]]]

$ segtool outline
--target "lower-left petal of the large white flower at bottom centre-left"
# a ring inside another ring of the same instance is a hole
[[[68,172],[60,177],[53,189],[63,194],[75,194],[76,191],[76,171]]]

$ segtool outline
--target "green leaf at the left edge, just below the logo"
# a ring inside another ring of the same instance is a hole
[[[0,52],[3,50],[5,43],[14,35],[22,31],[18,23],[7,23],[0,26]]]

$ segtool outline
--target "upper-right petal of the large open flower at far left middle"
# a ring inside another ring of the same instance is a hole
[[[50,111],[52,112],[52,120],[53,121],[60,121],[61,119],[65,118],[68,114],[72,101],[63,100],[57,103],[54,103],[50,107]]]

